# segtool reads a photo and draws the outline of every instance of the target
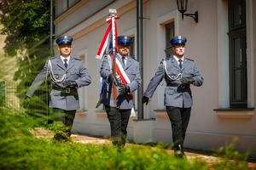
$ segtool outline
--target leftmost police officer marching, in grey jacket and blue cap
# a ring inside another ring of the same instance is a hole
[[[76,110],[79,109],[78,88],[88,86],[90,75],[80,59],[70,56],[73,37],[61,36],[56,39],[60,56],[46,61],[43,70],[32,82],[26,96],[31,98],[47,77],[51,77],[49,107],[54,113],[53,121],[60,121],[67,127],[67,136],[55,133],[55,139],[67,139],[73,124]]]

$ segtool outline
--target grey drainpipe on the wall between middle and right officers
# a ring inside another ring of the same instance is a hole
[[[137,59],[142,77],[141,85],[137,91],[137,119],[142,120],[144,118],[143,104],[141,102],[143,98],[143,0],[137,0]]]

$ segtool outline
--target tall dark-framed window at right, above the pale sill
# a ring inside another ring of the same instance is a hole
[[[247,107],[246,1],[229,0],[230,108]]]

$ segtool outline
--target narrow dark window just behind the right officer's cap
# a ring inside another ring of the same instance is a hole
[[[170,57],[173,54],[170,40],[174,35],[174,22],[166,24],[166,57]]]

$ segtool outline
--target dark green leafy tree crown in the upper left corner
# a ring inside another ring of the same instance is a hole
[[[50,0],[2,0],[0,1],[0,22],[2,35],[7,35],[5,54],[15,56],[31,48],[34,42],[44,41],[49,45]],[[32,50],[32,52],[30,52]]]

